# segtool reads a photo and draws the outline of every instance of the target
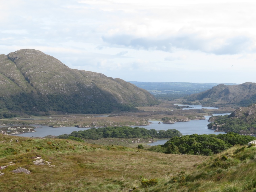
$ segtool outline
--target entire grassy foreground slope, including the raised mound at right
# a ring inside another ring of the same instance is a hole
[[[234,146],[206,157],[65,139],[0,135],[0,142],[0,166],[15,163],[0,170],[5,173],[0,176],[1,191],[256,191],[256,147]],[[54,166],[36,166],[34,157]],[[31,174],[11,172],[18,167]],[[142,177],[158,182],[143,187]]]

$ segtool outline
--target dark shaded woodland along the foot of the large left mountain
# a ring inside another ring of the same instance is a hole
[[[157,104],[150,103],[150,104]],[[136,110],[137,103],[117,104],[115,102],[95,100],[87,101],[79,94],[48,94],[46,96],[37,94],[21,93],[11,97],[0,97],[0,109],[10,111],[22,111],[28,115],[50,115],[50,111],[77,114],[102,114],[114,110],[130,111]],[[2,114],[5,118],[14,117],[15,114]]]

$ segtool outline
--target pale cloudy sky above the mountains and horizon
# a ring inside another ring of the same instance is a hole
[[[256,82],[255,1],[0,2],[0,54],[36,49],[125,81]]]

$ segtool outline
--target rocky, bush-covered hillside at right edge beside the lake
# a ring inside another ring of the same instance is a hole
[[[243,135],[256,134],[256,104],[250,107],[239,107],[230,115],[212,116],[209,118],[209,129],[235,132]]]

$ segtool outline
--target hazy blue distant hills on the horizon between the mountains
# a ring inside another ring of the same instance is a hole
[[[194,94],[211,89],[220,83],[188,83],[188,82],[138,82],[128,81],[137,87],[146,89],[150,93]],[[235,85],[235,83],[224,83]]]

